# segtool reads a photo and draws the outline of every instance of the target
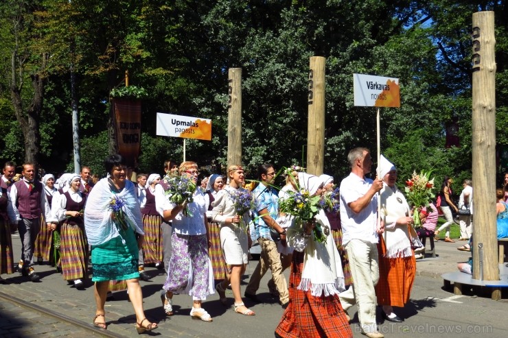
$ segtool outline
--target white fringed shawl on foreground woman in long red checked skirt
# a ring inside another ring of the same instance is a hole
[[[328,227],[326,243],[314,241],[314,232],[311,232],[308,239],[303,239],[301,228],[298,225],[292,225],[288,229],[288,243],[295,246],[295,250],[298,250],[299,247],[296,244],[297,242],[301,244],[304,241],[306,242],[305,249],[303,249],[305,254],[303,258],[303,272],[301,274],[300,285],[297,289],[303,291],[310,289],[314,297],[320,297],[323,293],[326,297],[338,295],[345,290],[344,273],[342,263],[340,263],[340,256],[332,237],[330,222],[323,210],[319,210],[319,214],[316,215],[316,221],[321,225],[323,233],[325,232],[325,227]]]

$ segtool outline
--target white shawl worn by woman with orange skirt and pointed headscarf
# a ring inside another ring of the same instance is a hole
[[[384,244],[386,245],[386,257],[398,258],[413,256],[411,241],[409,241],[408,226],[396,226],[397,219],[411,216],[406,197],[399,189],[391,189],[383,186],[381,190],[381,217],[384,219]]]

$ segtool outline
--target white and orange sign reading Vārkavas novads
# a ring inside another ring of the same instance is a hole
[[[400,108],[399,79],[353,74],[354,105]]]

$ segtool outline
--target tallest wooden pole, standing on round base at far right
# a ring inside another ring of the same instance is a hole
[[[496,237],[494,12],[473,14],[473,278],[499,280]],[[483,247],[483,250],[479,248]],[[482,254],[483,252],[483,254]]]

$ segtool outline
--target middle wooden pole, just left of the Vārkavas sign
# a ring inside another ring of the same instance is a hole
[[[307,125],[307,172],[319,176],[325,161],[325,64],[323,56],[310,58]]]

